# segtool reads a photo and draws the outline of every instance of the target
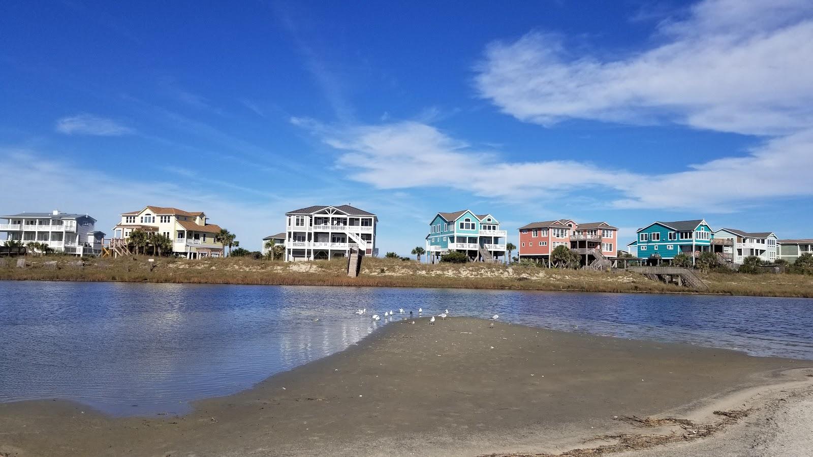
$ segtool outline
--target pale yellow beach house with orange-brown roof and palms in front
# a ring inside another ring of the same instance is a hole
[[[147,206],[139,211],[121,213],[113,227],[111,246],[128,242],[133,230],[160,233],[172,241],[172,253],[187,259],[223,257],[223,243],[215,242],[220,225],[209,224],[203,211],[184,211],[172,207]]]

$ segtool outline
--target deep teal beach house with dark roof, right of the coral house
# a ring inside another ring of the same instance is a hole
[[[714,231],[706,220],[655,221],[637,230],[637,240],[627,246],[636,246],[638,257],[651,263],[671,263],[679,253],[692,258],[692,264],[702,252],[711,252]]]

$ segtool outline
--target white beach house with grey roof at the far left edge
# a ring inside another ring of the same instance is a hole
[[[0,224],[0,233],[6,234],[0,244],[37,242],[72,255],[98,255],[102,250],[104,233],[95,229],[96,220],[86,214],[54,210],[2,215],[0,219],[6,220]]]

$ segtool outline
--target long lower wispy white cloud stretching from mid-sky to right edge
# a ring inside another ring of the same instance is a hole
[[[606,163],[546,159],[506,160],[438,128],[416,121],[332,126],[295,118],[341,151],[337,168],[378,189],[450,188],[513,202],[579,197],[587,189],[618,208],[734,211],[772,198],[811,196],[813,181],[790,180],[788,170],[813,168],[813,130],[778,137],[745,155],[715,159],[672,173],[630,172]],[[708,197],[714,195],[709,201]]]

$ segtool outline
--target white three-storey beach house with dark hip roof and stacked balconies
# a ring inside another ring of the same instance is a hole
[[[285,260],[336,259],[358,249],[378,255],[378,217],[350,205],[300,208],[285,213]]]

